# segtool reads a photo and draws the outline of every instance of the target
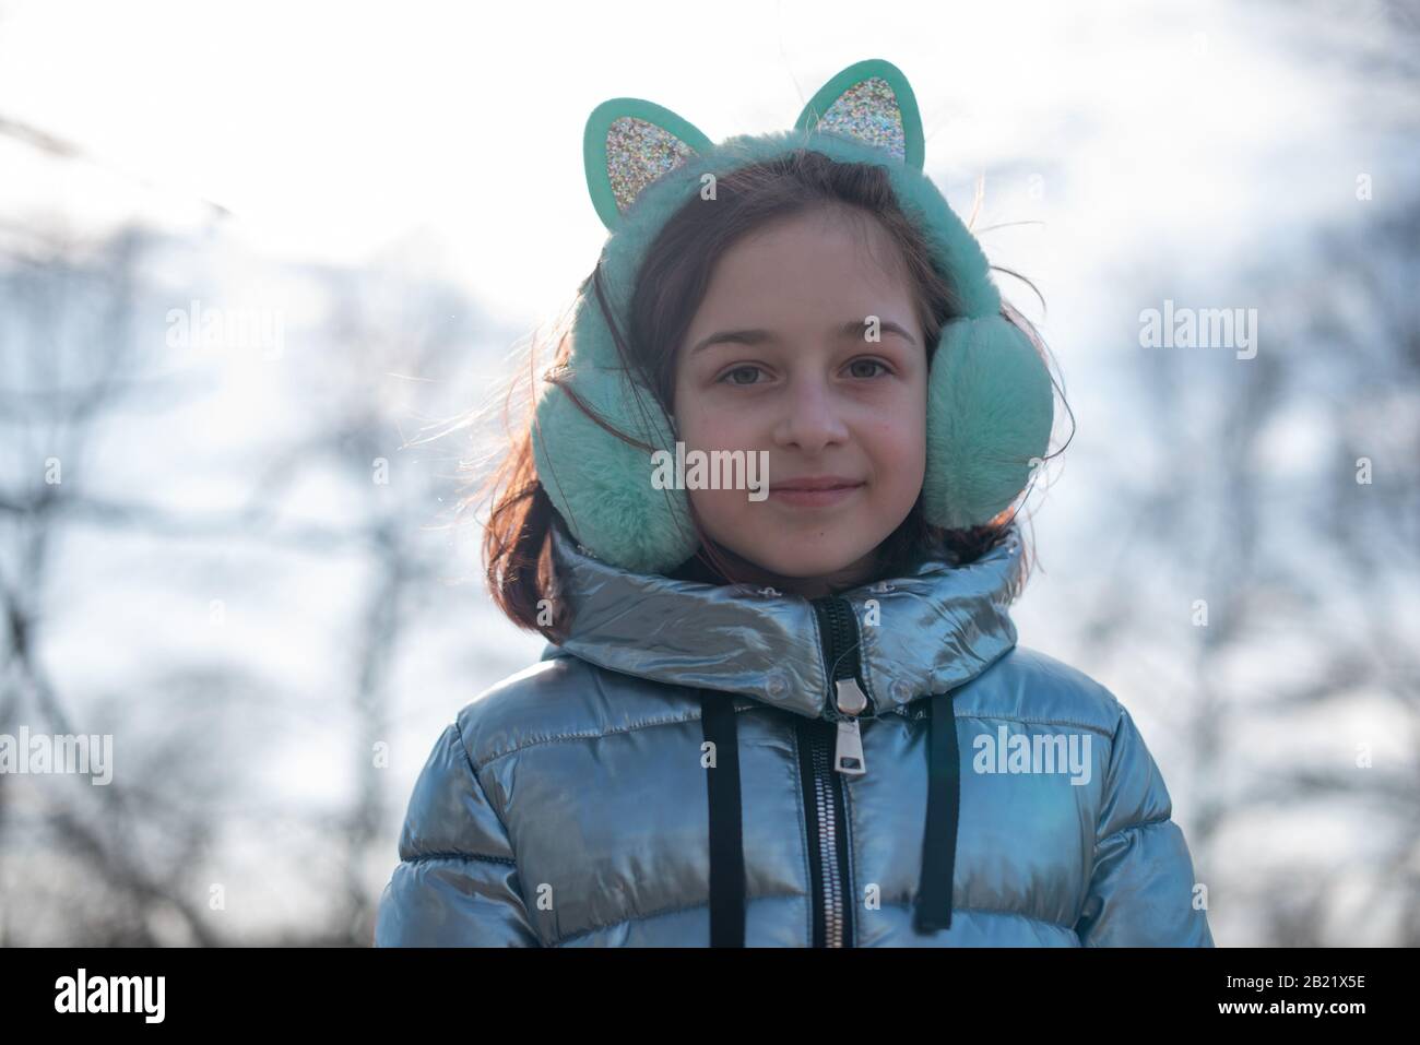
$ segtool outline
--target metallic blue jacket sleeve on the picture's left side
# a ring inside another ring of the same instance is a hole
[[[375,946],[538,946],[508,832],[479,782],[457,721],[415,782],[399,866],[379,900]]]

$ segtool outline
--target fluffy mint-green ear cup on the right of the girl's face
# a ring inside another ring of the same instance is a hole
[[[1000,315],[950,321],[927,379],[927,521],[960,530],[1010,507],[1045,456],[1054,410],[1025,334]]]

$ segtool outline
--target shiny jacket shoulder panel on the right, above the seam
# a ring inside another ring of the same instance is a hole
[[[1079,726],[1115,735],[1123,704],[1103,684],[1064,660],[1014,646],[957,690],[957,714]]]

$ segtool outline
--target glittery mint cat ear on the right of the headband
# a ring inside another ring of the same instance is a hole
[[[922,170],[923,139],[917,97],[890,61],[855,62],[818,89],[794,124],[883,149]]]

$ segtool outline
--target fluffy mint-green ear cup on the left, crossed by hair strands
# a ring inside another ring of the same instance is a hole
[[[674,454],[665,412],[649,390],[638,396],[623,371],[569,371],[562,381],[616,430]],[[532,457],[552,505],[596,558],[665,574],[696,552],[686,491],[652,486],[650,452],[604,429],[561,388],[537,405]]]

